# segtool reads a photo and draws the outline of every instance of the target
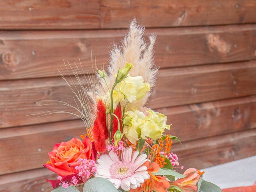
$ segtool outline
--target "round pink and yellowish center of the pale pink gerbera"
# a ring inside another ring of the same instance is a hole
[[[124,179],[134,174],[135,166],[131,162],[115,162],[110,166],[110,174],[112,178]]]

